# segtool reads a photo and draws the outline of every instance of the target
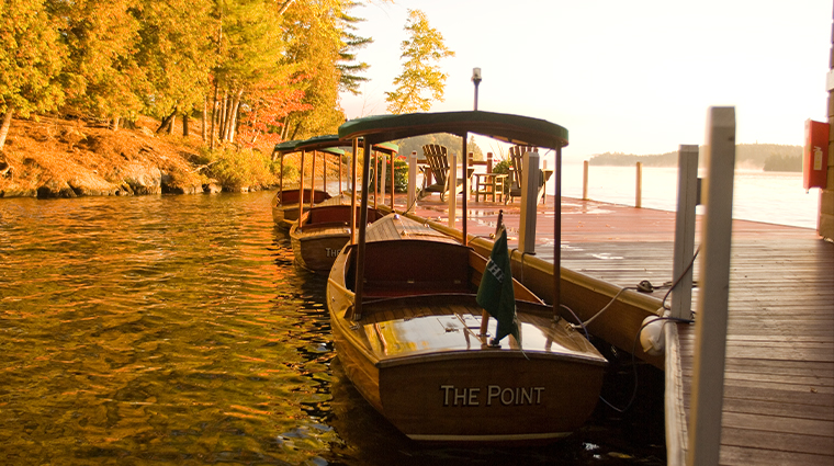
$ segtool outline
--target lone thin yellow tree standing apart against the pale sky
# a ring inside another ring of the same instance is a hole
[[[428,111],[432,100],[442,102],[447,75],[436,64],[454,56],[422,11],[408,10],[405,30],[409,38],[401,45],[403,72],[394,79],[396,90],[385,92],[388,112],[394,114]],[[424,92],[429,92],[430,98],[424,96]]]

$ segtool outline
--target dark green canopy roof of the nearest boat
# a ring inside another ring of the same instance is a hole
[[[435,133],[475,133],[516,145],[557,149],[567,146],[567,129],[544,120],[482,111],[407,113],[352,120],[339,126],[339,137],[364,136],[372,144]]]

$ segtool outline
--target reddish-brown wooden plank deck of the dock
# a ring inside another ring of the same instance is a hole
[[[549,201],[539,208],[536,248],[552,261]],[[498,209],[512,248],[518,203],[470,203],[469,232],[488,236]],[[446,205],[431,198],[416,213],[448,218]],[[672,212],[565,198],[562,266],[619,286],[661,286],[673,280],[674,228]],[[698,273],[696,261],[696,281]],[[697,309],[697,289],[692,299]],[[729,311],[720,463],[834,464],[834,243],[812,229],[734,220]],[[679,422],[668,422],[667,437],[680,439],[685,457],[695,326],[677,325],[677,334],[667,352],[678,367],[667,371],[667,409],[669,396],[684,409]]]

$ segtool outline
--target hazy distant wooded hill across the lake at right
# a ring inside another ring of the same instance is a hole
[[[645,167],[677,167],[677,151],[650,156],[605,152],[591,156],[588,163],[629,167],[643,162]],[[699,164],[703,166],[703,158],[700,158]],[[802,171],[802,146],[740,144],[735,147],[735,167],[765,171]]]

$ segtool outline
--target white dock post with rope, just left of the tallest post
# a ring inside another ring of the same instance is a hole
[[[691,318],[692,269],[684,271],[695,254],[695,207],[698,205],[698,146],[678,149],[678,204],[675,214],[675,250],[672,277],[680,283],[672,291],[672,317]]]

